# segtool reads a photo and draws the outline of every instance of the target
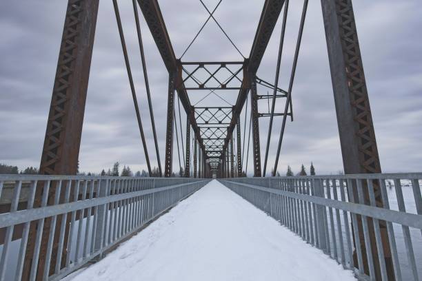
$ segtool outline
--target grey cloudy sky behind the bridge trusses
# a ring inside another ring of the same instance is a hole
[[[100,1],[97,34],[83,125],[80,169],[101,171],[119,160],[132,170],[146,169],[128,84],[112,1]],[[217,0],[205,1],[212,9]],[[288,86],[302,1],[291,1],[279,85]],[[137,50],[130,0],[119,1],[141,115],[155,164],[148,104]],[[161,11],[181,56],[207,18],[197,0],[160,0]],[[383,171],[422,171],[422,6],[420,0],[354,0],[354,12],[374,127]],[[0,163],[39,165],[57,56],[66,13],[66,0],[0,1]],[[215,12],[223,28],[248,56],[263,0],[222,1]],[[274,81],[280,22],[274,31],[258,76]],[[152,103],[163,162],[168,74],[150,32],[142,22]],[[210,21],[184,61],[237,61],[241,56]],[[265,88],[259,88],[261,94]],[[223,92],[220,92],[223,93]],[[192,104],[203,92],[192,92]],[[236,93],[223,94],[234,103]],[[198,105],[221,104],[216,96]],[[277,108],[283,107],[281,101]],[[260,103],[265,112],[266,103]],[[321,173],[342,169],[328,55],[320,1],[310,1],[301,55],[293,89],[294,122],[288,123],[279,171],[298,171],[314,162]],[[242,114],[243,116],[243,114]],[[182,117],[185,121],[185,117]],[[242,117],[243,120],[243,117]],[[270,165],[274,163],[281,119],[275,120]],[[242,121],[243,122],[243,121]],[[262,157],[268,120],[261,119]],[[182,125],[185,134],[185,125]],[[242,133],[243,134],[243,133]],[[249,171],[252,161],[249,163]],[[174,167],[178,167],[174,154]],[[174,168],[177,169],[177,168]]]

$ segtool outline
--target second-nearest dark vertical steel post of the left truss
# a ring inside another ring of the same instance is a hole
[[[173,116],[174,116],[174,80],[175,74],[169,74],[167,100],[167,131],[165,133],[165,167],[164,176],[172,176],[173,165]]]

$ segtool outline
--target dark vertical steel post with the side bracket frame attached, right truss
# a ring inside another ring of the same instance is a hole
[[[250,77],[250,97],[254,176],[261,177],[261,147],[259,145],[258,94],[257,81],[254,75]]]

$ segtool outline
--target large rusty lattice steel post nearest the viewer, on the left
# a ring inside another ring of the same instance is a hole
[[[40,174],[77,174],[98,6],[99,0],[68,1],[41,155]],[[55,191],[56,187],[52,185],[48,194],[49,202],[54,200]],[[63,200],[63,197],[64,194],[61,194],[61,200]],[[41,198],[42,189],[37,188],[34,199],[35,206],[41,204]],[[61,219],[61,216],[59,216],[57,225],[61,225]],[[51,219],[47,219],[43,225],[43,238],[46,239],[42,239],[39,253],[39,274],[37,274],[39,280],[42,278],[42,270],[46,261],[47,237],[50,226]],[[68,227],[69,222],[66,223],[66,229]],[[36,233],[36,223],[32,223],[23,265],[23,280],[30,276]],[[67,243],[67,241],[68,236],[66,235],[64,242]],[[55,264],[57,256],[63,254],[57,253],[58,244],[59,233],[56,231],[51,264]]]

